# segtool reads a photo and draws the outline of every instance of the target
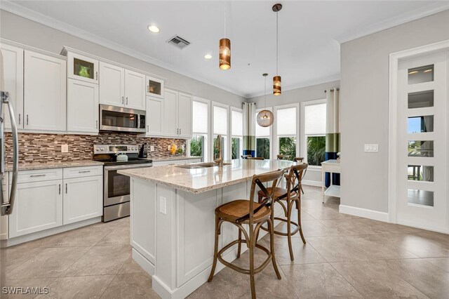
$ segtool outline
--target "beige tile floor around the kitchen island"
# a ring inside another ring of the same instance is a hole
[[[282,279],[269,264],[255,277],[257,298],[449,298],[448,235],[340,214],[338,199],[321,204],[320,188],[304,191],[307,244],[295,236],[291,261],[285,237],[276,237]],[[264,253],[256,253],[262,261]],[[30,241],[6,254],[6,285],[48,286],[50,293],[37,298],[158,298],[151,278],[130,258],[129,218]],[[234,263],[248,265],[248,253]],[[249,277],[225,268],[189,298],[250,298]]]

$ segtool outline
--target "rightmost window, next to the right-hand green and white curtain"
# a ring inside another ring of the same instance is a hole
[[[321,166],[326,152],[326,102],[304,106],[306,161]]]

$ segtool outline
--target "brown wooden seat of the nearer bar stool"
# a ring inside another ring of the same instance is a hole
[[[268,190],[269,188],[267,188]],[[259,208],[261,204],[257,202],[253,203],[254,208]],[[215,208],[215,215],[219,218],[226,219],[227,221],[235,222],[237,219],[248,214],[250,211],[250,201],[247,199],[237,199],[227,204],[223,204],[218,208]],[[269,218],[270,209],[267,206],[262,206],[257,213],[254,214],[254,222],[266,221]],[[248,220],[241,223],[248,222]]]

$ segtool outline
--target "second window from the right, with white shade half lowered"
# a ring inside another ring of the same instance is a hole
[[[297,157],[297,106],[276,107],[275,120],[278,152],[293,161]]]

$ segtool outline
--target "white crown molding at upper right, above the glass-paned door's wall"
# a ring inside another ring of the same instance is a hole
[[[382,20],[376,22],[372,25],[366,27],[361,27],[352,32],[341,34],[335,37],[335,40],[339,44],[346,43],[347,41],[353,41],[354,39],[359,39],[363,36],[367,36],[376,32],[380,32],[384,29],[389,29],[398,25],[405,24],[406,22],[411,22],[413,20],[418,20],[420,18],[427,17],[429,15],[434,15],[435,13],[441,13],[441,11],[447,11],[449,9],[449,1],[438,1],[433,4],[429,4],[423,8],[417,8],[414,11],[409,11],[407,13],[402,13],[401,15],[396,15],[387,20]]]

